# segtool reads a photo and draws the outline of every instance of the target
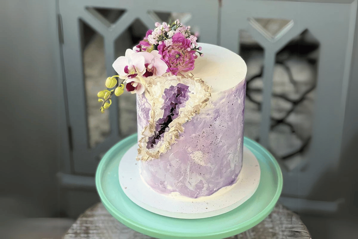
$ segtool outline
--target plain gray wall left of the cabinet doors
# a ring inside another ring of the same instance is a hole
[[[55,0],[1,0],[0,24],[0,209],[52,216],[61,97]]]

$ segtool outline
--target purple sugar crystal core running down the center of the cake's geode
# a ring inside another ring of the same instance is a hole
[[[189,86],[178,83],[176,86],[170,86],[164,90],[164,103],[161,107],[164,110],[163,118],[156,121],[155,132],[149,137],[147,149],[154,148],[163,137],[164,132],[168,131],[169,124],[179,116],[179,109],[185,107],[185,103],[189,99]]]

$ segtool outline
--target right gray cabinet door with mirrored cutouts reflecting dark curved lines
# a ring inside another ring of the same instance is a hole
[[[223,1],[221,46],[248,64],[245,133],[280,162],[283,195],[308,197],[337,169],[356,13],[357,1]]]

